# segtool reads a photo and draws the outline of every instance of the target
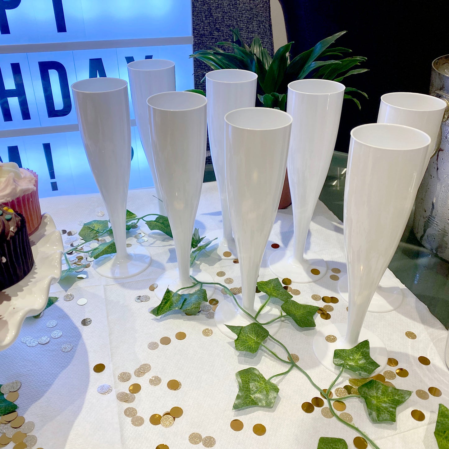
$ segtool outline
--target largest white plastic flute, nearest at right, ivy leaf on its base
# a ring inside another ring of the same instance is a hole
[[[351,131],[344,188],[344,246],[348,264],[348,324],[320,329],[313,351],[335,373],[334,350],[366,339],[381,372],[387,349],[363,322],[374,291],[390,262],[412,210],[431,138],[402,125],[370,123]],[[335,335],[334,343],[326,341]],[[344,373],[353,376],[353,373]]]

